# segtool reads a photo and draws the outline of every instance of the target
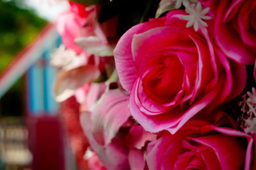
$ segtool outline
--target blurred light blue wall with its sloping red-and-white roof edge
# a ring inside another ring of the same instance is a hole
[[[58,104],[52,96],[56,68],[49,65],[49,61],[61,42],[54,24],[45,26],[36,39],[0,74],[0,98],[19,77],[26,74],[28,114],[56,114]]]

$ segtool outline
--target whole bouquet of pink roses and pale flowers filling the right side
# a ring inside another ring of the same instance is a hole
[[[256,169],[256,1],[69,3],[54,95],[89,169]]]

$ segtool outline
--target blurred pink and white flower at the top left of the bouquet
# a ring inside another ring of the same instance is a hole
[[[61,13],[56,22],[63,43],[77,54],[84,50],[97,56],[113,56],[118,17],[99,23],[99,12],[100,6],[70,2],[70,10]]]

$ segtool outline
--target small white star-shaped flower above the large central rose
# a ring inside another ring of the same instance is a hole
[[[186,27],[194,26],[195,31],[198,31],[199,23],[205,27],[208,26],[204,20],[211,19],[210,16],[205,16],[205,14],[209,12],[210,8],[203,9],[200,2],[198,2],[196,5],[190,4],[186,5],[185,7],[186,12],[189,13],[189,15],[182,16],[182,19],[188,20]]]

